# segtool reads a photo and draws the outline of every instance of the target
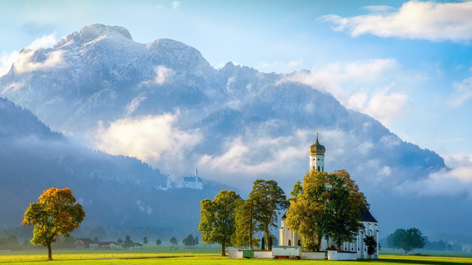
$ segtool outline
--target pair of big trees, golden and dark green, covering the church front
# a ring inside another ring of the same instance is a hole
[[[300,234],[304,248],[320,250],[321,239],[329,237],[339,248],[354,242],[364,229],[362,212],[370,205],[346,170],[330,174],[312,170],[290,194],[286,225]]]

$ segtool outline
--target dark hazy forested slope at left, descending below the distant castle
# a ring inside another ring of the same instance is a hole
[[[26,207],[43,190],[68,187],[84,206],[84,225],[147,226],[166,238],[194,228],[200,200],[225,188],[205,182],[204,191],[156,190],[166,180],[159,169],[80,146],[2,98],[0,179],[0,200],[8,202],[0,205],[0,224],[19,225]]]

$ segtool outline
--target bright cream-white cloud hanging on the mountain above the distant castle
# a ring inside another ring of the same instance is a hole
[[[183,157],[202,140],[198,130],[182,131],[174,124],[178,113],[118,119],[104,127],[100,122],[95,148],[110,154],[159,161],[162,156]]]

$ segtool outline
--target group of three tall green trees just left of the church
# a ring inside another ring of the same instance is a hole
[[[232,190],[221,190],[215,199],[200,202],[200,224],[205,244],[221,244],[221,256],[226,246],[259,247],[259,236],[270,249],[270,229],[277,227],[277,216],[289,203],[284,191],[273,180],[256,180],[248,199],[244,200]]]

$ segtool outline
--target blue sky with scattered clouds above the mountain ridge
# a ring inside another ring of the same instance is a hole
[[[471,4],[2,1],[0,69],[35,40],[51,46],[85,25],[119,25],[138,42],[185,42],[215,68],[232,61],[262,72],[311,70],[299,81],[456,167],[472,164]]]

